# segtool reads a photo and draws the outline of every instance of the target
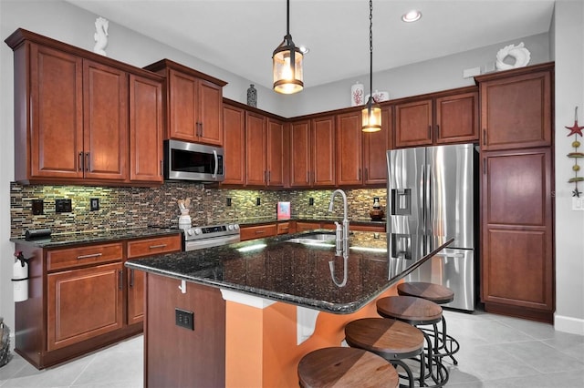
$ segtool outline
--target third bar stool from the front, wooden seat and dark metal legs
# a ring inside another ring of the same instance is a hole
[[[413,296],[389,296],[379,299],[376,304],[377,312],[384,318],[407,322],[417,328],[427,325],[432,327],[431,333],[423,332],[428,343],[426,357],[429,371],[424,379],[432,378],[434,387],[441,387],[447,383],[448,370],[443,365],[442,357],[437,353],[440,346],[437,323],[442,321],[442,307],[433,301]],[[436,366],[435,373],[433,373],[433,365]]]

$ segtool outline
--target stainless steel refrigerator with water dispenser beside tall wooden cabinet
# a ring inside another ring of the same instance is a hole
[[[387,151],[387,230],[393,258],[409,260],[454,237],[406,281],[454,291],[444,306],[474,311],[477,151],[473,144]]]

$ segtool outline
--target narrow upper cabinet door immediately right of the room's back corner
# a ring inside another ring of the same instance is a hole
[[[290,187],[310,186],[310,121],[290,126]]]

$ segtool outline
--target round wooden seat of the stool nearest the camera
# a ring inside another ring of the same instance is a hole
[[[391,387],[400,383],[397,371],[377,354],[356,348],[324,348],[309,352],[298,363],[300,386]]]

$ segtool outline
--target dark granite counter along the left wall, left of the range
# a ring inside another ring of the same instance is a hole
[[[161,228],[132,228],[119,230],[90,230],[77,233],[52,234],[47,239],[26,240],[23,238],[10,239],[19,244],[31,245],[39,248],[64,248],[68,245],[110,242],[115,240],[144,239],[165,235],[183,233],[179,229]]]

